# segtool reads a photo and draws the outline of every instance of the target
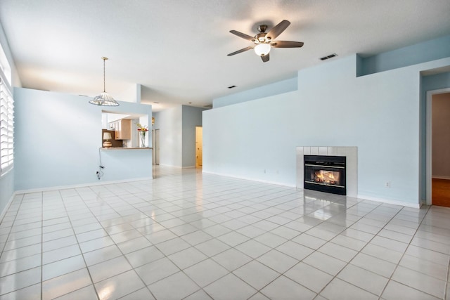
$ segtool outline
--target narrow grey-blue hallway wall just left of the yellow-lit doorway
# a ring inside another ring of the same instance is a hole
[[[202,126],[204,108],[182,106],[183,116],[183,167],[195,167],[195,126]]]

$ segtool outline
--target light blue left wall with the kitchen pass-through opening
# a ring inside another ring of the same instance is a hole
[[[88,100],[63,93],[15,89],[15,190],[98,182],[101,112],[105,107],[91,105]],[[151,117],[151,105],[121,102],[118,107],[107,108],[110,112]],[[101,181],[152,176],[151,152],[148,162],[120,165],[121,157],[133,161],[129,151],[102,154],[105,176]]]

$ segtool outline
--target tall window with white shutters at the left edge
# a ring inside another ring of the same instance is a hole
[[[0,174],[13,169],[14,161],[14,100],[11,86],[0,70]]]

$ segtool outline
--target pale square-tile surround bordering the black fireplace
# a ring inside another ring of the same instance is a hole
[[[346,181],[347,196],[356,197],[358,193],[358,148],[335,146],[299,146],[297,150],[297,188],[303,188],[304,155],[326,155],[347,157]]]

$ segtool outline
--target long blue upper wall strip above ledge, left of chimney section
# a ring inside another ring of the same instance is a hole
[[[297,90],[297,77],[285,79],[274,82],[273,84],[266,84],[255,89],[233,93],[229,96],[216,98],[212,100],[212,107],[218,108],[226,105],[242,103],[245,101],[255,100],[262,97],[278,95],[281,93],[288,93]]]

